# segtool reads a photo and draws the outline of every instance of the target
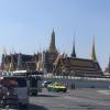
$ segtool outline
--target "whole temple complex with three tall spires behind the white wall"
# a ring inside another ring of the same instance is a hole
[[[75,40],[70,56],[59,54],[55,45],[55,32],[53,30],[48,50],[25,55],[22,53],[2,54],[1,69],[3,70],[44,70],[55,75],[72,76],[103,76],[96,57],[95,38],[91,50],[91,59],[78,58],[75,50]]]

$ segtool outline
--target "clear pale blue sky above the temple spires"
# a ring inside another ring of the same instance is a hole
[[[105,69],[110,56],[110,0],[0,0],[0,54],[56,47],[68,55],[75,36],[77,57],[90,58],[95,35],[97,59]]]

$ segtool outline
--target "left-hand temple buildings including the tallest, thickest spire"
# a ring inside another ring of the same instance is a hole
[[[1,69],[3,70],[45,70],[46,73],[53,72],[53,63],[57,56],[57,50],[55,45],[55,32],[53,30],[51,35],[50,47],[46,51],[34,53],[33,55],[25,55],[22,53],[14,53],[8,55],[2,54]]]

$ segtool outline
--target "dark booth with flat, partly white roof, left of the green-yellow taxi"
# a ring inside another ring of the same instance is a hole
[[[37,96],[42,92],[43,70],[15,70],[13,75],[25,76],[30,96]]]

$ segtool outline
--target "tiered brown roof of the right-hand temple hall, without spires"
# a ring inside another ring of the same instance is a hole
[[[80,75],[102,75],[102,70],[97,62],[92,59],[85,59],[85,58],[75,58],[75,57],[66,57],[59,58],[57,63],[54,64],[55,69],[54,73],[57,73],[58,68],[65,67],[69,73],[74,70]]]

